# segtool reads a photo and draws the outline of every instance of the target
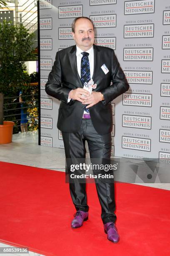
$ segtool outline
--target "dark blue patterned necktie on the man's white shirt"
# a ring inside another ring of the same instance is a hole
[[[81,59],[81,82],[82,82],[82,85],[84,86],[85,82],[88,83],[90,81],[90,64],[88,59],[89,53],[83,51],[81,54],[83,55]],[[88,108],[85,108],[85,111],[89,113]]]

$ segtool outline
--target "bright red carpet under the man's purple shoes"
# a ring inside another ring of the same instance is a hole
[[[0,162],[0,178],[2,243],[46,256],[170,255],[170,191],[117,183],[115,244],[103,231],[94,184],[87,184],[89,220],[71,229],[75,209],[65,173]]]

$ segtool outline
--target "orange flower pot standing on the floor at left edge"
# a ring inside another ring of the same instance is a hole
[[[0,144],[7,144],[12,142],[14,122],[4,121],[0,125]]]

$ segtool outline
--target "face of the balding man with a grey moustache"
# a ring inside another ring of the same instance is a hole
[[[75,33],[72,36],[77,46],[83,51],[90,49],[94,43],[94,30],[90,20],[78,19],[75,23]]]

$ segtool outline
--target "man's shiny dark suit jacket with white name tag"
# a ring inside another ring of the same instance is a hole
[[[112,131],[112,108],[109,104],[113,99],[126,92],[129,84],[120,68],[114,50],[94,47],[94,72],[92,79],[97,84],[93,91],[101,92],[105,100],[89,108],[92,123],[97,133],[104,135]],[[105,74],[101,66],[105,64],[109,72]],[[112,85],[110,86],[110,82]],[[68,94],[72,89],[83,88],[77,72],[76,46],[58,51],[52,71],[49,74],[45,91],[48,95],[61,100],[58,112],[57,128],[66,133],[76,133],[80,129],[85,105],[77,100],[67,103]]]

